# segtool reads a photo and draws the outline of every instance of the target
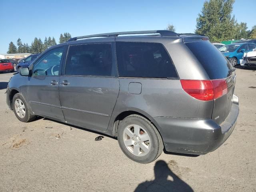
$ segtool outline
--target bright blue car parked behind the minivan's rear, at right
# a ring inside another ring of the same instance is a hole
[[[234,67],[237,64],[240,64],[240,59],[242,59],[244,52],[247,53],[252,51],[254,48],[256,48],[256,44],[254,43],[232,43],[220,48],[220,52],[226,56]]]

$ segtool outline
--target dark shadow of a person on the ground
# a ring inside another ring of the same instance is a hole
[[[192,188],[174,174],[163,160],[156,162],[154,174],[154,180],[139,184],[134,192],[193,192]],[[171,176],[173,181],[168,180],[168,176]]]

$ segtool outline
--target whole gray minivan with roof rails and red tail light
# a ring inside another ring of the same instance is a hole
[[[205,36],[97,34],[52,46],[21,68],[7,104],[22,122],[43,116],[116,136],[128,158],[149,163],[164,148],[216,150],[238,118],[235,83],[234,68]]]

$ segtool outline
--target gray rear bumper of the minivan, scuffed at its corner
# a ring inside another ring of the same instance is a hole
[[[168,152],[206,154],[216,150],[230,136],[239,114],[238,97],[233,95],[230,114],[218,125],[212,119],[154,118],[160,126]]]

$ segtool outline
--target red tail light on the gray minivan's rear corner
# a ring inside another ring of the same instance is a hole
[[[202,101],[217,99],[228,92],[228,86],[225,79],[180,80],[180,83],[183,90],[190,96]]]

